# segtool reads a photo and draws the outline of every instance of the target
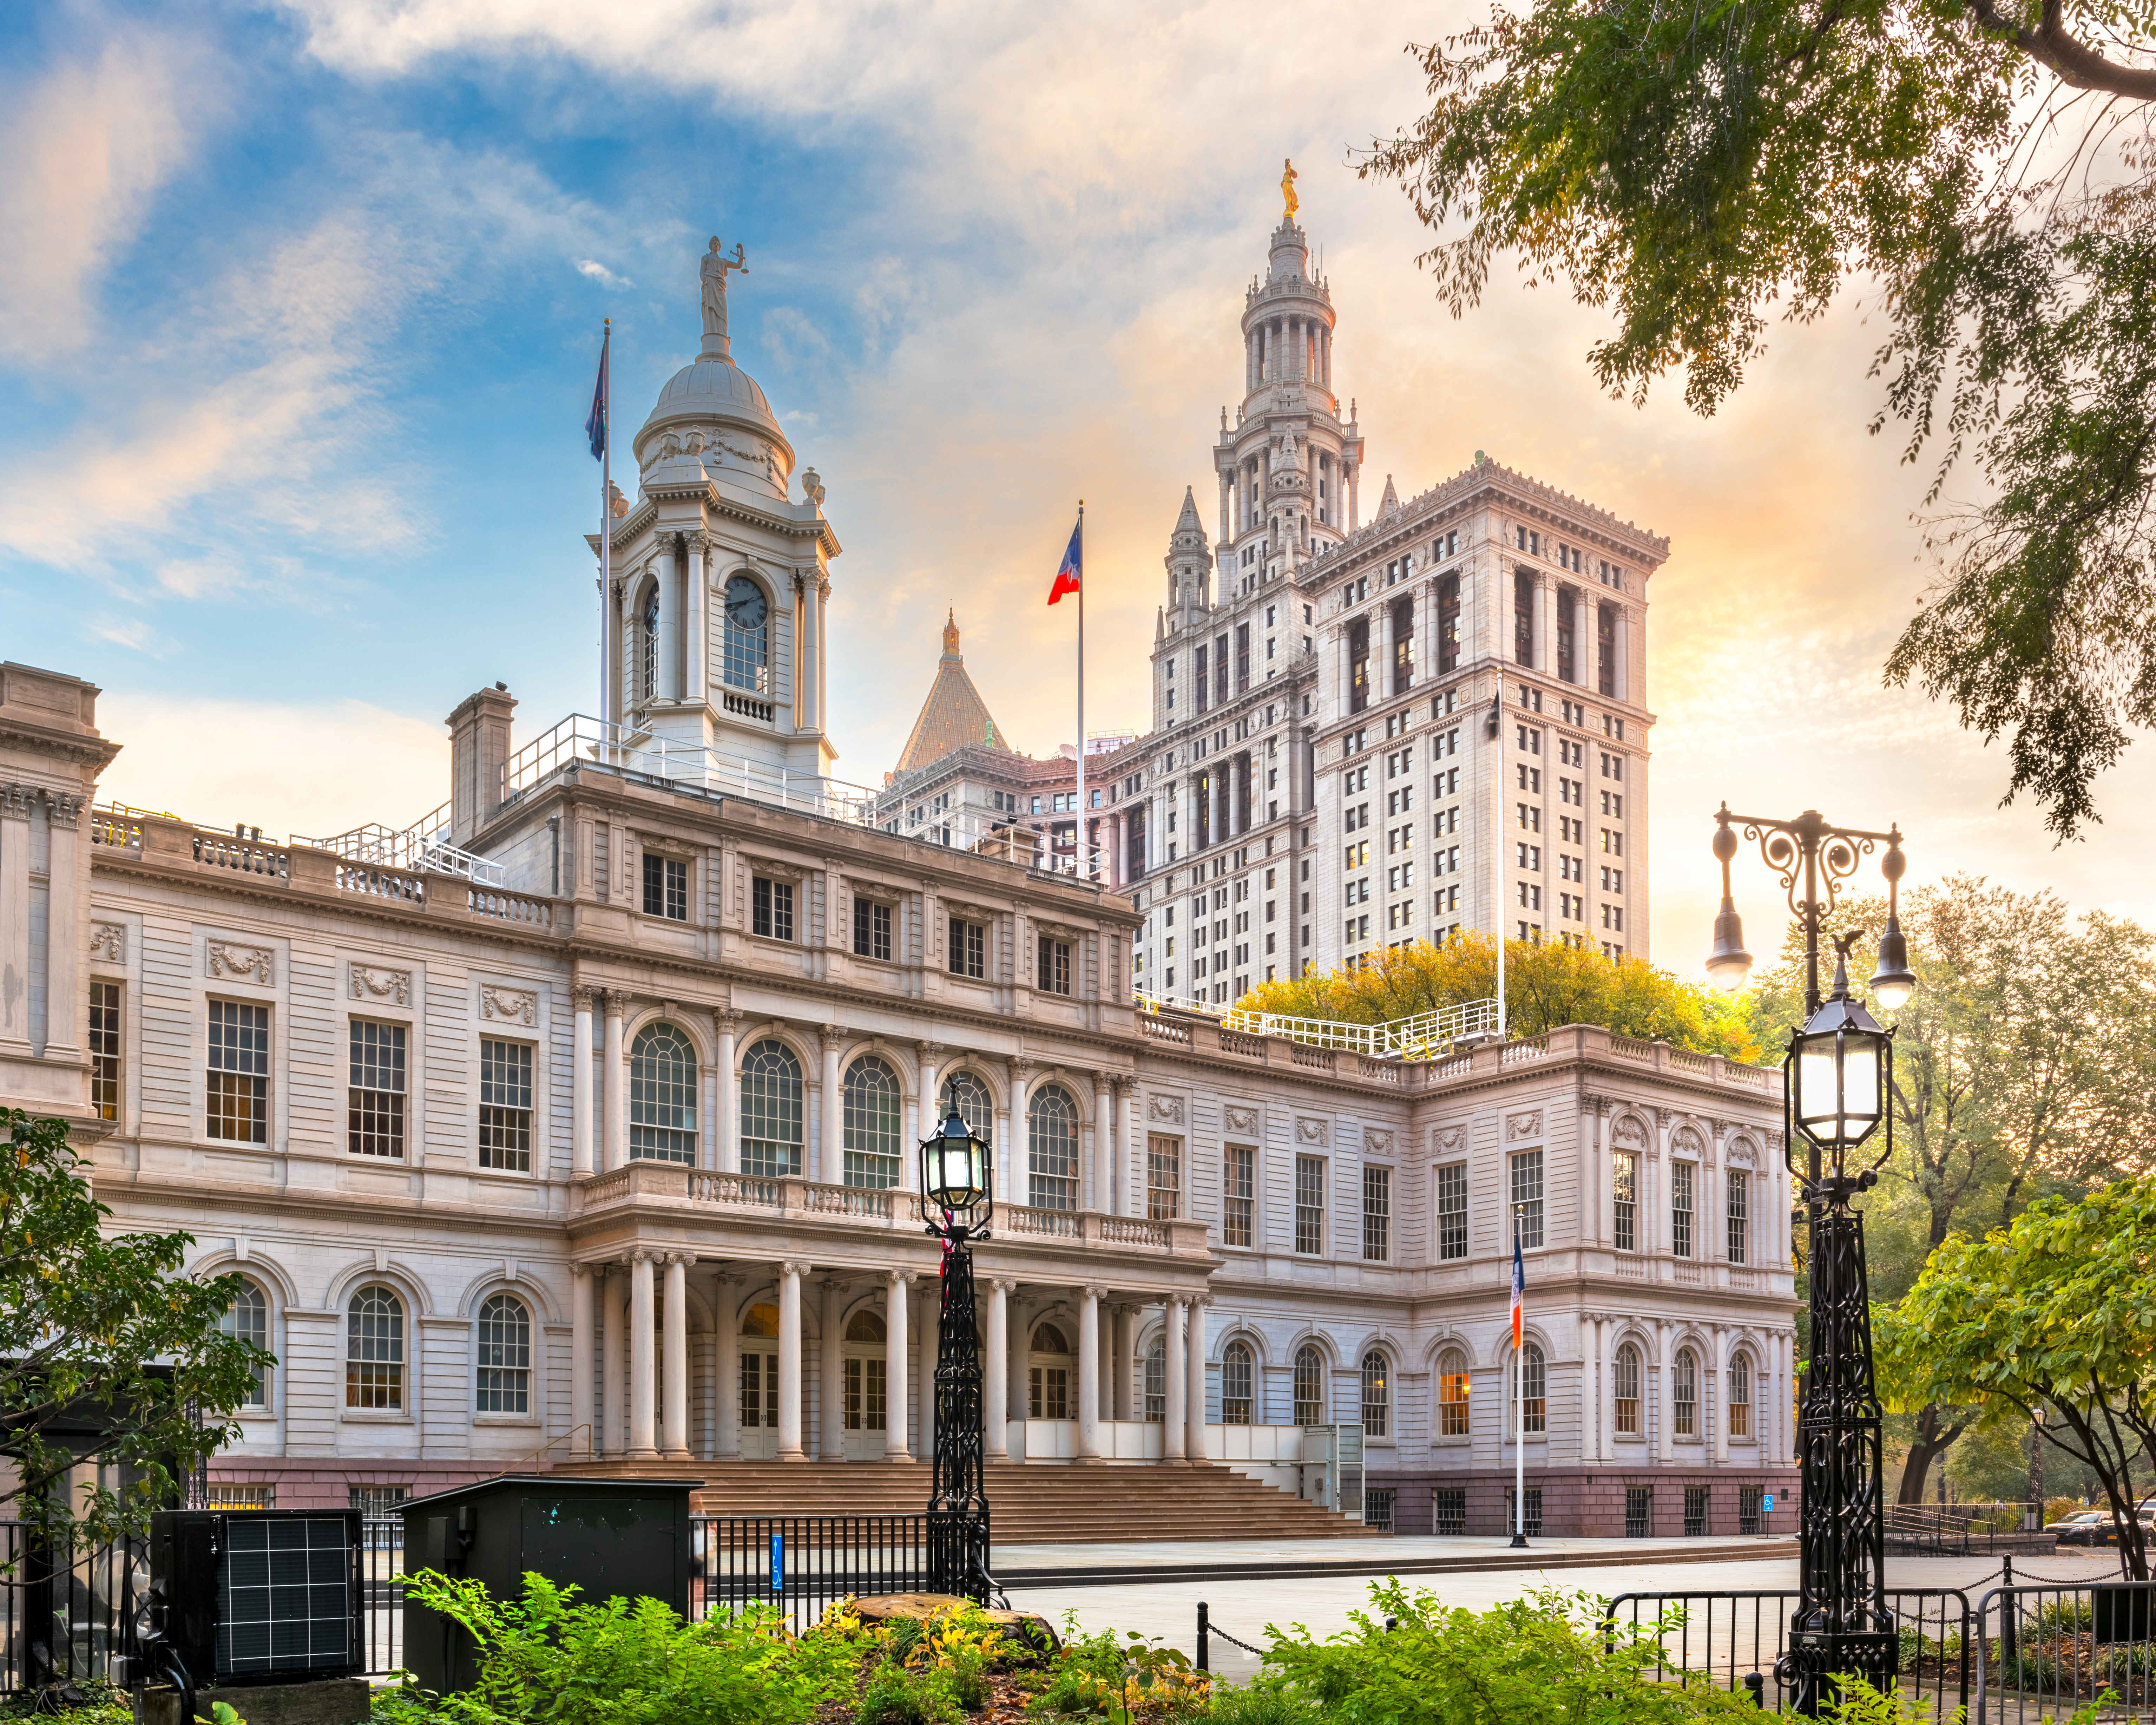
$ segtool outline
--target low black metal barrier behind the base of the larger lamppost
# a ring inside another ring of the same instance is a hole
[[[1619,1593],[1606,1624],[1647,1628],[1673,1606],[1680,1622],[1662,1630],[1658,1675],[1705,1671],[1725,1688],[1753,1688],[1761,1706],[1781,1708],[1787,1686],[1774,1675],[1789,1647],[1794,1591]],[[1887,1609],[1902,1630],[1902,1690],[1936,1721],[1968,1703],[1975,1634],[1968,1600],[1953,1587],[1887,1589]]]

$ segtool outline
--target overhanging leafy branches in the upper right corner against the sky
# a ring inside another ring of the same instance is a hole
[[[1533,0],[1414,45],[1434,106],[1358,170],[1440,237],[1455,315],[1503,252],[1617,330],[1589,364],[1712,414],[1768,315],[1850,280],[1925,507],[1973,455],[1988,500],[1934,522],[1940,574],[1887,662],[2009,735],[2063,839],[2156,722],[2156,9],[2150,0]],[[2085,95],[2072,95],[2072,93]]]

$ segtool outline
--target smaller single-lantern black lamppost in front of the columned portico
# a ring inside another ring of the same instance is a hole
[[[987,1484],[981,1460],[981,1339],[972,1326],[972,1244],[994,1212],[990,1147],[951,1102],[921,1141],[921,1208],[942,1240],[942,1311],[936,1328],[936,1453],[929,1481],[929,1591],[987,1604]]]

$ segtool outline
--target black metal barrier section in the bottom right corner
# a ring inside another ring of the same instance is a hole
[[[1992,1587],[1977,1600],[1977,1725],[2035,1725],[2104,1701],[2111,1721],[2156,1721],[2156,1581]]]

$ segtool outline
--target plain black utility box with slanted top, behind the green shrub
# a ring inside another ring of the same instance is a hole
[[[436,1570],[524,1591],[526,1572],[576,1587],[578,1604],[614,1596],[664,1600],[688,1615],[688,1494],[701,1479],[565,1479],[515,1475],[397,1505],[405,1574]],[[479,1678],[472,1639],[448,1617],[405,1600],[403,1662],[440,1695]]]

